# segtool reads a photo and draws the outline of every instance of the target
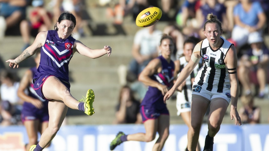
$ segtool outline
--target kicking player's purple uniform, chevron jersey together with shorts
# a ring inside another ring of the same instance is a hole
[[[37,94],[43,96],[41,87],[49,76],[55,76],[70,89],[68,64],[73,57],[73,45],[75,39],[69,36],[60,39],[57,31],[48,31],[46,43],[41,47],[40,64],[34,76],[34,89]]]

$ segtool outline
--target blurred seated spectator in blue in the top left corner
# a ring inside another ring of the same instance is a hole
[[[26,6],[26,0],[0,1],[0,40],[4,38],[7,29],[25,18]]]

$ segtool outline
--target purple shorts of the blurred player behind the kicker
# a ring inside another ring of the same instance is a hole
[[[49,121],[48,101],[43,102],[43,108],[38,109],[31,103],[24,103],[22,109],[22,123],[26,120],[39,120],[41,123]]]

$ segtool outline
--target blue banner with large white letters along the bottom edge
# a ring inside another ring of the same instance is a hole
[[[109,151],[110,142],[116,134],[144,133],[144,125],[65,125],[56,134],[47,151]],[[187,147],[186,125],[170,125],[170,134],[163,151],[185,151]],[[202,125],[199,143],[203,150],[208,126]],[[39,136],[40,137],[40,136]],[[149,143],[127,141],[115,151],[149,151],[154,141]],[[0,127],[0,151],[24,151],[28,142],[24,126]],[[214,137],[214,151],[268,151],[269,125],[221,125]]]

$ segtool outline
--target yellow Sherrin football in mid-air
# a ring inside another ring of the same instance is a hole
[[[139,27],[148,27],[154,25],[162,17],[162,10],[158,7],[149,7],[141,11],[135,20]]]

